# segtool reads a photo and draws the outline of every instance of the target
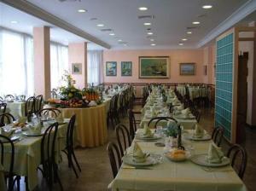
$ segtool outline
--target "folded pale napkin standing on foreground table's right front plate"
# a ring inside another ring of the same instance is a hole
[[[223,157],[224,153],[222,152],[221,148],[218,148],[218,146],[212,142],[208,149],[207,161],[209,163],[218,164],[221,163]]]

